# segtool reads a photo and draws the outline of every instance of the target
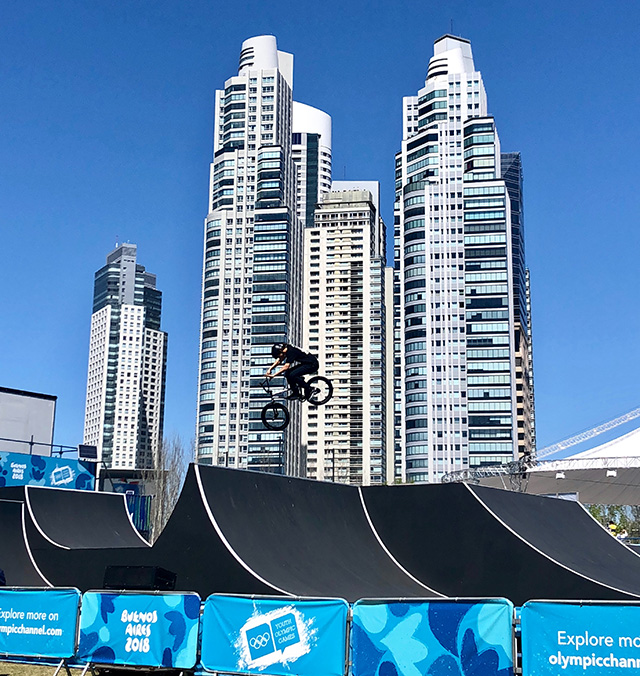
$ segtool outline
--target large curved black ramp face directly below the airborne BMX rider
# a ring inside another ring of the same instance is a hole
[[[196,471],[231,549],[276,587],[348,601],[438,596],[385,552],[356,487],[218,467]]]

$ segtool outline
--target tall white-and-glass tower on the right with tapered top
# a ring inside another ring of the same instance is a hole
[[[530,453],[520,156],[501,155],[463,38],[436,41],[424,87],[404,99],[394,222],[400,478]]]

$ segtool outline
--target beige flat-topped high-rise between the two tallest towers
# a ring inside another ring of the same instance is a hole
[[[310,479],[387,480],[385,228],[375,181],[335,181],[305,229],[304,345],[333,398],[304,412]],[[389,421],[391,424],[393,419]]]

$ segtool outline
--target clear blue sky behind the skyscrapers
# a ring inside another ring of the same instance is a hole
[[[57,395],[55,442],[82,441],[93,275],[134,242],[163,291],[165,433],[190,440],[214,90],[241,42],[294,54],[334,178],[381,181],[391,224],[402,96],[452,30],[523,155],[538,447],[640,406],[636,0],[2,0],[0,385]]]

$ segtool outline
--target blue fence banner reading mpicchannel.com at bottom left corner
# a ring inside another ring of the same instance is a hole
[[[0,655],[71,657],[79,605],[77,589],[0,590]]]

